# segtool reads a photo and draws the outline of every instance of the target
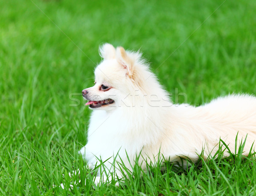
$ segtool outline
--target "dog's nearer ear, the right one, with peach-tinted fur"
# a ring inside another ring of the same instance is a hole
[[[130,78],[133,78],[133,66],[134,62],[131,58],[128,57],[125,49],[122,47],[116,48],[116,60],[126,69],[126,75]]]

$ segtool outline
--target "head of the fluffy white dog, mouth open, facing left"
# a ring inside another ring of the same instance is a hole
[[[104,44],[100,49],[102,62],[96,67],[95,85],[82,91],[83,97],[92,109],[111,110],[122,103],[130,104],[130,95],[142,87],[147,65],[139,52],[125,51]],[[144,68],[143,68],[144,67]]]

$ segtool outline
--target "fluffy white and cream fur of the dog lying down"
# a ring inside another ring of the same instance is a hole
[[[256,139],[256,97],[229,95],[199,107],[175,105],[139,52],[104,44],[100,55],[96,84],[86,89],[87,99],[115,102],[91,114],[88,142],[80,151],[89,165],[108,159],[105,166],[112,171],[113,157],[117,157],[116,161],[121,158],[131,168],[127,155],[131,164],[140,152],[154,162],[159,151],[166,160],[178,161],[181,156],[197,161],[203,148],[207,159],[218,150],[220,138],[235,153],[237,134],[238,142],[247,136],[243,154],[248,155]],[[100,91],[102,83],[112,88]],[[140,163],[145,167],[143,159]],[[104,175],[106,179],[108,174]]]

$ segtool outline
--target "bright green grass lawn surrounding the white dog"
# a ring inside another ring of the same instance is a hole
[[[256,161],[241,156],[190,169],[167,164],[141,179],[135,166],[120,187],[94,190],[77,154],[90,114],[79,94],[93,84],[102,43],[140,49],[174,102],[184,101],[175,99],[181,92],[193,105],[254,94],[255,1],[12,0],[0,1],[0,13],[1,195],[256,194]],[[70,95],[81,103],[71,107]],[[86,186],[52,188],[76,181],[67,173],[78,168]]]

